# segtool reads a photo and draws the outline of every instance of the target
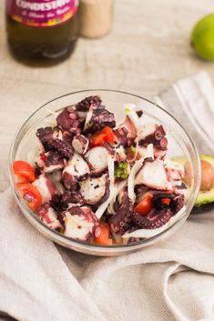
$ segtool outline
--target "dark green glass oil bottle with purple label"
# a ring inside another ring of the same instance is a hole
[[[78,0],[6,0],[11,53],[33,65],[66,59],[76,45],[77,9]]]

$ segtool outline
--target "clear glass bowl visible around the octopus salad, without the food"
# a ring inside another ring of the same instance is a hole
[[[42,126],[53,124],[55,117],[53,112],[58,112],[60,109],[68,105],[76,105],[77,102],[89,95],[100,95],[104,105],[110,111],[117,115],[117,121],[124,119],[125,112],[123,105],[135,104],[138,109],[144,112],[144,119],[156,121],[159,124],[165,125],[168,130],[168,156],[185,156],[189,161],[191,168],[191,186],[189,187],[189,197],[186,203],[186,210],[178,220],[168,226],[168,228],[147,239],[143,239],[136,243],[129,243],[127,245],[115,246],[99,246],[88,244],[84,241],[78,241],[69,237],[63,236],[57,231],[49,229],[40,219],[25,205],[25,202],[18,193],[15,186],[15,176],[11,170],[12,164],[17,159],[26,160],[26,153],[29,149],[36,146],[36,129]],[[14,141],[11,145],[9,155],[9,174],[12,189],[14,191],[15,200],[21,211],[28,219],[28,221],[36,227],[36,229],[44,234],[52,241],[61,246],[66,246],[72,250],[86,253],[95,256],[119,256],[137,251],[145,246],[151,246],[155,243],[172,236],[180,226],[184,224],[188,218],[195,199],[199,193],[200,186],[200,162],[199,154],[192,139],[189,137],[186,130],[178,123],[178,121],[164,109],[158,105],[148,101],[147,99],[138,95],[131,95],[117,90],[85,90],[72,94],[63,95],[51,100],[45,105],[41,106],[36,112],[30,115],[25,123],[18,130]]]

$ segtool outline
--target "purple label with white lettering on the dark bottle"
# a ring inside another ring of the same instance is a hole
[[[60,25],[76,14],[78,0],[7,0],[7,15],[22,25]]]

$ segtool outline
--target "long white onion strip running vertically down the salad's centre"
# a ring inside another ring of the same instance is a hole
[[[95,215],[97,216],[98,219],[102,217],[104,212],[107,209],[107,206],[111,202],[112,198],[115,196],[117,187],[115,186],[115,162],[114,159],[111,155],[107,155],[107,169],[108,169],[108,176],[109,176],[109,189],[110,189],[110,194],[107,198],[107,201],[104,202],[101,206],[97,208],[97,211]]]

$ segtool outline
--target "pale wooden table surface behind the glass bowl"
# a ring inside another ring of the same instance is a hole
[[[61,65],[32,68],[9,55],[5,1],[0,2],[0,192],[8,186],[6,164],[15,130],[57,95],[112,88],[152,97],[201,69],[214,80],[214,63],[199,60],[189,46],[192,25],[213,11],[210,0],[116,0],[110,35],[79,39]]]

